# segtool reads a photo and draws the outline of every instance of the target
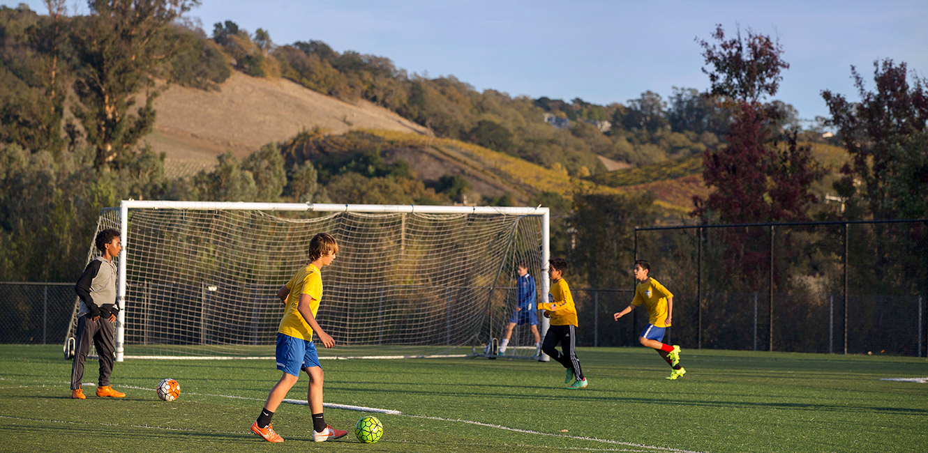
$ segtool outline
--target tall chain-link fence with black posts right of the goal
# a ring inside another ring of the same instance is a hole
[[[639,228],[635,242],[675,295],[680,345],[928,352],[928,220]]]

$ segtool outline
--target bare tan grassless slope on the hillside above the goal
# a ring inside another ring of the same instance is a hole
[[[226,151],[245,157],[314,127],[333,133],[358,128],[431,133],[367,101],[349,104],[285,79],[240,72],[216,92],[173,85],[155,100],[155,110],[154,131],[145,140],[166,153],[169,170],[182,174],[212,167]]]

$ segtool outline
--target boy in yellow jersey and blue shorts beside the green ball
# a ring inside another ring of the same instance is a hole
[[[277,297],[286,305],[284,317],[277,328],[277,370],[283,371],[283,376],[271,388],[258,420],[251,424],[251,432],[268,442],[284,441],[271,427],[271,417],[293,384],[296,384],[300,370],[309,375],[307,399],[313,414],[313,441],[325,442],[348,434],[347,431],[333,429],[322,417],[324,374],[313,344],[313,333],[316,332],[323,346],[335,346],[335,340],[329,333],[323,332],[316,322],[316,312],[322,299],[322,276],[319,270],[329,266],[337,253],[339,245],[335,238],[327,233],[316,234],[309,242],[310,263],[277,291]]]

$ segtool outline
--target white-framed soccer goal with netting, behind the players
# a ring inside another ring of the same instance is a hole
[[[319,347],[320,357],[493,355],[517,305],[516,266],[528,265],[537,300],[548,294],[548,216],[542,207],[122,201],[97,224],[122,237],[116,359],[273,358],[277,289],[306,265],[320,232],[340,245],[322,270],[316,316],[337,346]],[[518,325],[506,357],[534,358],[533,344]]]

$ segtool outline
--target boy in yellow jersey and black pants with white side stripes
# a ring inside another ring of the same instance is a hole
[[[548,276],[551,278],[550,302],[538,302],[538,309],[545,310],[545,318],[551,319],[551,325],[548,327],[548,333],[545,333],[545,341],[541,344],[541,350],[548,354],[552,359],[561,362],[561,365],[567,369],[564,376],[564,384],[570,384],[567,388],[577,389],[586,387],[586,377],[580,370],[580,360],[575,353],[576,347],[576,328],[577,328],[577,309],[574,307],[574,297],[571,296],[571,288],[567,286],[564,280],[564,271],[567,271],[567,261],[561,258],[548,260]],[[561,344],[561,352],[558,352],[554,346]],[[571,384],[571,381],[574,381]]]

